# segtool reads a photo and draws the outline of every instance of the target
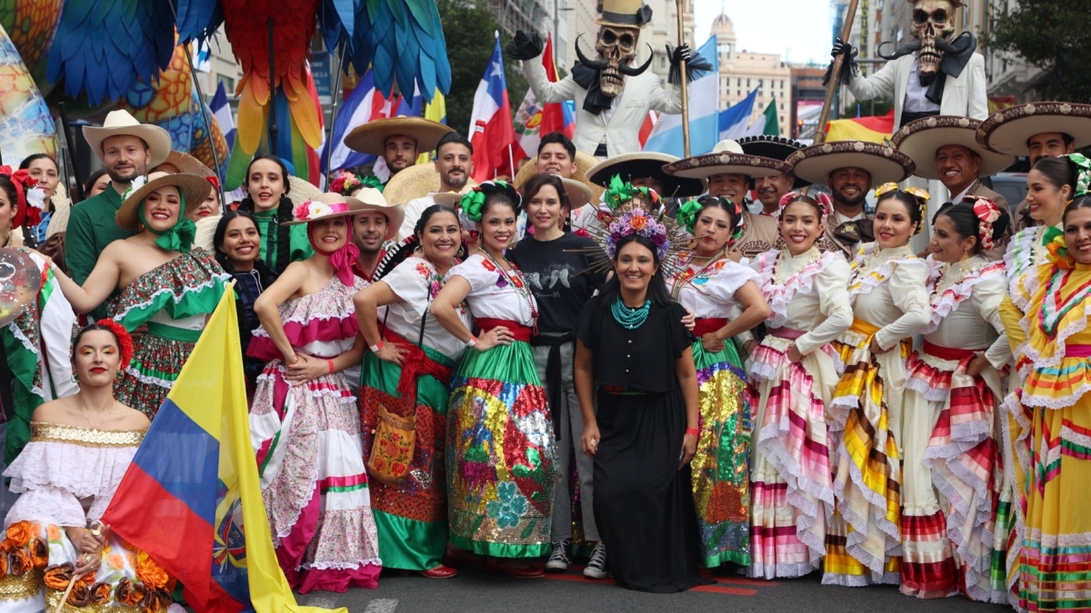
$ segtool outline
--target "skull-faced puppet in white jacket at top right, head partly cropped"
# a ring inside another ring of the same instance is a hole
[[[841,82],[860,100],[891,96],[898,128],[936,115],[984,120],[988,116],[985,59],[975,52],[978,40],[972,34],[955,36],[955,11],[963,1],[908,1],[913,4],[910,31],[915,39],[889,56],[882,52],[888,43],[879,45],[878,56],[888,60],[886,65],[871,76],[861,76],[855,49],[839,38],[832,55],[846,53],[848,64],[841,71]]]

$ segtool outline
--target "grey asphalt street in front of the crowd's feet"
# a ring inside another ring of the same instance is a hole
[[[864,613],[925,611],[930,613],[1004,613],[1008,606],[982,604],[962,597],[920,600],[898,593],[895,586],[841,588],[820,585],[818,574],[801,579],[765,581],[711,575],[714,585],[673,594],[640,593],[613,580],[585,579],[579,566],[543,579],[513,579],[463,568],[452,579],[425,579],[384,572],[377,590],[347,593],[311,592],[301,604],[345,606],[352,613],[409,612],[760,612]]]

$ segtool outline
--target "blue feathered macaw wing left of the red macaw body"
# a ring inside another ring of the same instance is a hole
[[[46,79],[97,105],[157,76],[173,50],[169,0],[65,0]]]

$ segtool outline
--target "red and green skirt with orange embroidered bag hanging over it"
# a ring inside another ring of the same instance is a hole
[[[428,347],[429,358],[444,365],[451,359]],[[432,376],[417,380],[416,406],[397,393],[401,368],[368,352],[360,382],[363,458],[371,457],[379,407],[400,416],[417,416],[412,461],[397,485],[372,480],[371,510],[379,530],[383,566],[428,570],[440,565],[447,546],[447,476],[444,446],[447,432],[447,387]]]

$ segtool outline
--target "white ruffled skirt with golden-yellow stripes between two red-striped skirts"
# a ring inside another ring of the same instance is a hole
[[[901,464],[883,371],[903,369],[908,347],[901,346],[903,356],[897,348],[872,356],[876,328],[862,329],[867,325],[853,322],[834,342],[844,373],[828,416],[836,513],[826,533],[827,585],[898,585],[900,578]]]

